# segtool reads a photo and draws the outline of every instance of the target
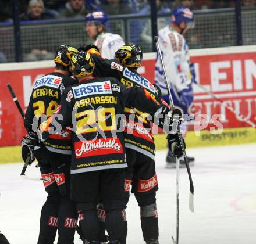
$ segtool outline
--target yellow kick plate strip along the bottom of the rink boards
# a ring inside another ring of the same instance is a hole
[[[155,145],[158,150],[166,150],[166,134],[154,135]],[[200,131],[200,135],[195,131],[189,131],[186,134],[187,148],[200,148],[208,146],[238,145],[256,142],[256,130],[254,128],[227,128],[220,134],[214,134],[207,130]],[[0,164],[22,162],[20,156],[20,146],[0,147]]]

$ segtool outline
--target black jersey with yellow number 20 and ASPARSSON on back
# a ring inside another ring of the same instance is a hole
[[[71,173],[127,167],[122,120],[125,107],[151,114],[163,110],[141,87],[126,87],[112,77],[90,78],[65,89],[56,114],[48,119],[42,138],[49,136],[56,116],[62,128],[72,123]]]

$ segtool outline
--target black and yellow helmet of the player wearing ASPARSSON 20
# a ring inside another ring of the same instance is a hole
[[[71,57],[72,71],[76,77],[85,77],[94,71],[94,62],[87,52],[79,52]]]

